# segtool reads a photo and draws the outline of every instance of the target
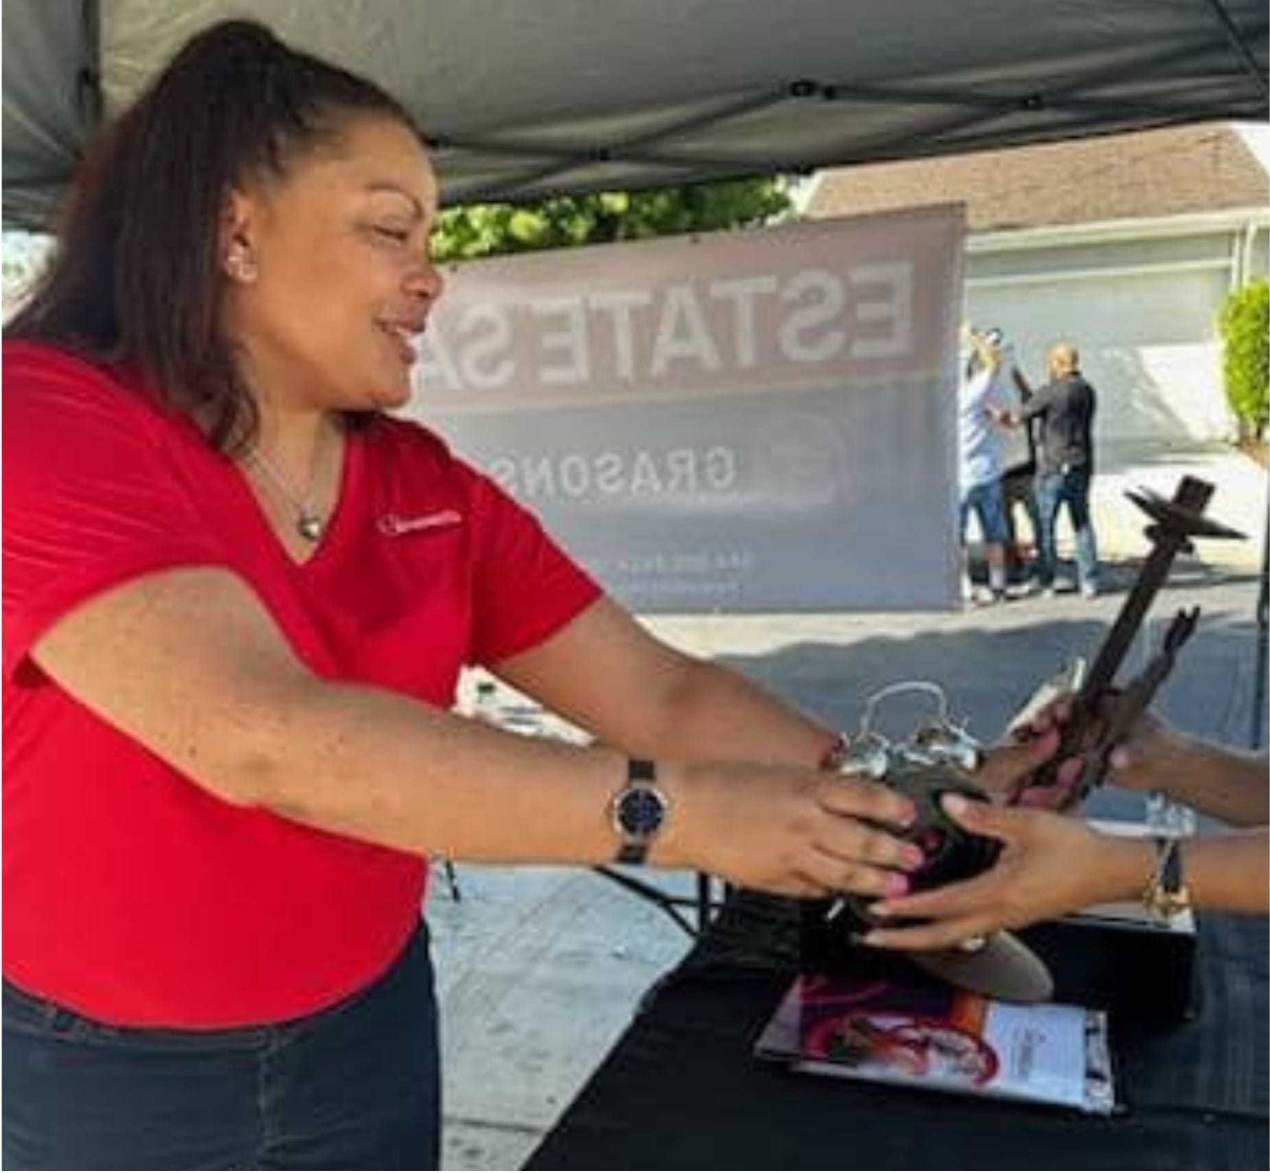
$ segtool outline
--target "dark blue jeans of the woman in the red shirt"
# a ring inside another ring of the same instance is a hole
[[[372,986],[276,1026],[104,1026],[4,986],[6,1169],[434,1169],[420,924]]]

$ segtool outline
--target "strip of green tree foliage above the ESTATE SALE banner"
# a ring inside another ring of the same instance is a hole
[[[790,211],[780,179],[735,179],[649,192],[555,196],[525,204],[469,204],[441,213],[437,260],[471,260],[615,240],[770,223]]]

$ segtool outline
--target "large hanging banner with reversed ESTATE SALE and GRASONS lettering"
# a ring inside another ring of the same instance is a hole
[[[418,414],[632,609],[950,606],[960,245],[939,208],[472,263]]]

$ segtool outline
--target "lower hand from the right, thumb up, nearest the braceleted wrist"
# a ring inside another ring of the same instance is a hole
[[[960,884],[872,905],[886,918],[919,918],[907,928],[878,927],[866,944],[936,950],[1002,928],[1063,915],[1142,889],[1151,875],[1151,840],[1100,835],[1081,819],[1046,810],[998,807],[944,797],[960,826],[1002,843],[988,871]]]

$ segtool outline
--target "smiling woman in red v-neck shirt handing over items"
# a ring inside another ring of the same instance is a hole
[[[391,98],[221,24],[86,162],[6,330],[8,1165],[436,1164],[433,854],[791,895],[921,862],[907,800],[817,768],[831,731],[384,414],[436,212]],[[464,664],[596,746],[451,715]]]

